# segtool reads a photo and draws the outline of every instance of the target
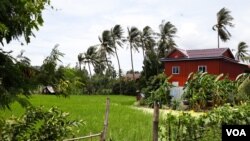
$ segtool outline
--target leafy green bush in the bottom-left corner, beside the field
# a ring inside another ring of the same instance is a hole
[[[45,111],[41,107],[29,107],[20,118],[0,121],[0,140],[63,140],[72,135],[73,127],[82,124],[82,121],[67,119],[68,115],[57,108]]]

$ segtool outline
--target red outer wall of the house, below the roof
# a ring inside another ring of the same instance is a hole
[[[188,60],[188,61],[172,61],[165,62],[165,74],[172,75],[170,82],[178,81],[179,86],[183,86],[191,72],[197,72],[199,65],[206,65],[207,72],[210,74],[229,74],[233,80],[238,74],[243,73],[246,66],[225,60]],[[172,66],[179,66],[180,73],[172,74]]]

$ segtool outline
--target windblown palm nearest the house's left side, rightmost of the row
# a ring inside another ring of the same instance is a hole
[[[176,44],[173,40],[177,32],[177,28],[170,22],[165,22],[164,20],[159,25],[160,33],[157,35],[160,37],[158,42],[158,57],[165,57],[166,51],[170,51]]]

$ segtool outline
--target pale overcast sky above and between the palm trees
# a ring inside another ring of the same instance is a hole
[[[31,43],[21,46],[13,41],[4,46],[17,55],[25,50],[25,56],[32,65],[41,65],[55,44],[65,53],[63,65],[75,66],[77,55],[91,45],[99,43],[102,31],[120,24],[124,31],[136,26],[140,30],[150,26],[158,32],[162,20],[170,21],[178,29],[175,41],[182,49],[202,49],[217,47],[217,33],[212,30],[216,23],[216,13],[228,8],[234,17],[234,28],[230,41],[221,47],[236,49],[240,41],[250,45],[250,1],[249,0],[51,0],[58,10],[44,11],[44,25]],[[233,52],[234,53],[234,52]],[[119,49],[122,70],[131,69],[127,46]],[[113,65],[117,68],[115,57]],[[142,53],[134,53],[134,68],[142,70]]]

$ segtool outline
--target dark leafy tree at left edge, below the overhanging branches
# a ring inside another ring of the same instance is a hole
[[[16,59],[10,53],[0,52],[0,108],[9,108],[14,101],[26,106],[29,103],[20,94],[29,96],[36,86],[37,71],[30,66],[29,59],[20,55]]]

